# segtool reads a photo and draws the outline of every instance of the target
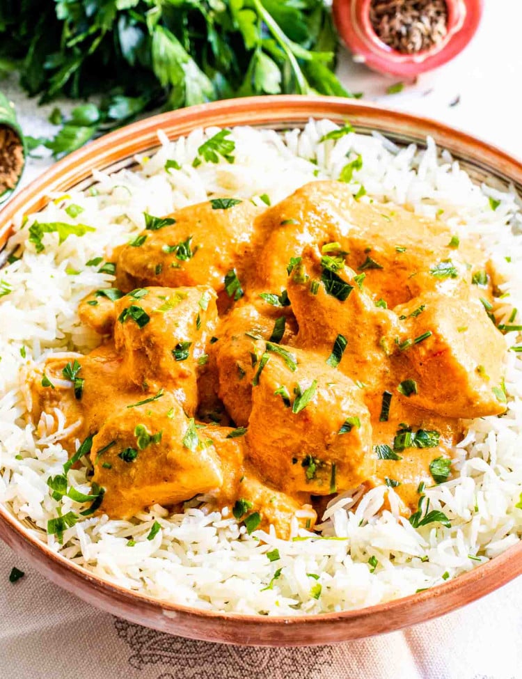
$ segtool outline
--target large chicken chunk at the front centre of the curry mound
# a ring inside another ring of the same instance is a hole
[[[290,494],[325,495],[374,473],[361,391],[323,357],[272,345],[254,384],[246,443],[267,482]]]

